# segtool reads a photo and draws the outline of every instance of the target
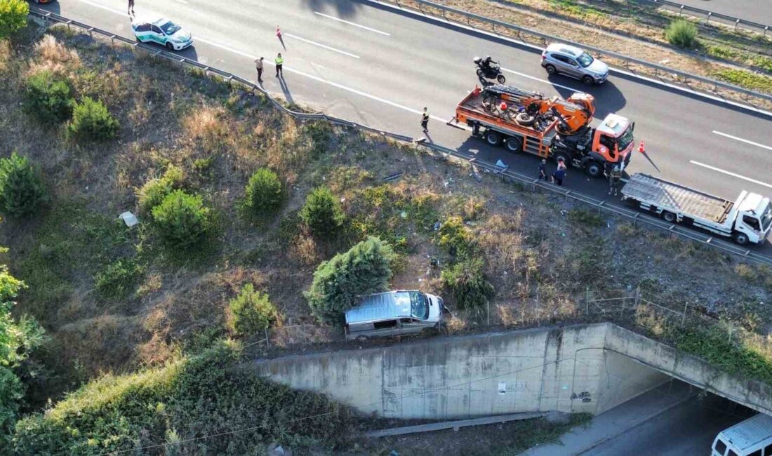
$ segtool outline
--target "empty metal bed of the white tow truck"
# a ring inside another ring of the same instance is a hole
[[[641,173],[634,174],[622,187],[622,195],[718,224],[726,221],[733,206],[732,201]]]

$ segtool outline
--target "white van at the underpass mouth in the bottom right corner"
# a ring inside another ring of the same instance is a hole
[[[772,417],[757,414],[721,431],[712,456],[772,456]]]

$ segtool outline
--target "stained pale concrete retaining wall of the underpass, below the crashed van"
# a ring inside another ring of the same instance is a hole
[[[770,387],[610,323],[539,328],[255,363],[257,373],[384,417],[598,414],[677,377],[716,394],[770,404]],[[668,375],[669,374],[669,375]],[[764,407],[754,407],[772,413]]]

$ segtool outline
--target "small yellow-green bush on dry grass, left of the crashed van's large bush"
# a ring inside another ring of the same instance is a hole
[[[229,327],[237,334],[250,335],[262,331],[276,321],[276,307],[266,293],[255,291],[251,283],[244,285],[239,296],[228,303]]]

